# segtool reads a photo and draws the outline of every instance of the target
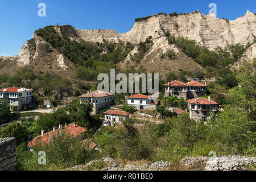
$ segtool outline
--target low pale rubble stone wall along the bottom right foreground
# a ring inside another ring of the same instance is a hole
[[[77,165],[72,168],[67,168],[68,171],[78,170],[85,171],[92,169],[95,163],[99,163],[100,160],[92,160],[86,165]],[[170,169],[174,164],[171,162],[154,162],[152,164],[122,164],[121,160],[113,158],[104,158],[101,171],[162,171]],[[180,167],[183,170],[198,170],[204,171],[247,171],[251,170],[248,165],[256,165],[255,157],[246,156],[219,156],[219,157],[185,157],[180,160]],[[254,167],[255,168],[255,167]]]

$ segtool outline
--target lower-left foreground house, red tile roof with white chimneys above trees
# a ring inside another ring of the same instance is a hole
[[[71,134],[72,137],[75,138],[75,137],[78,137],[79,135],[85,133],[85,131],[86,131],[86,129],[84,129],[83,127],[80,127],[79,125],[76,125],[76,123],[71,123],[64,127],[62,125],[59,125],[59,129],[56,129],[56,127],[53,127],[53,130],[49,131],[48,133],[44,133],[44,130],[42,129],[41,135],[26,142],[26,148],[33,150],[33,147],[36,144],[45,145],[45,144],[51,142],[52,137],[57,136],[61,133],[67,132],[68,134]]]

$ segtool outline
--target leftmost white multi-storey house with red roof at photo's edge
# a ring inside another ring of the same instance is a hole
[[[0,89],[0,98],[6,100],[11,110],[22,110],[23,106],[32,104],[32,89],[9,87]]]

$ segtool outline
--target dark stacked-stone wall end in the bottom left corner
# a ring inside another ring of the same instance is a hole
[[[15,171],[16,139],[0,138],[0,171]]]

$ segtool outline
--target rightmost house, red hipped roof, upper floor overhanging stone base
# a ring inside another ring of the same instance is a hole
[[[188,100],[189,116],[191,119],[203,119],[204,121],[210,118],[210,111],[217,111],[218,104],[210,97],[193,98]]]

